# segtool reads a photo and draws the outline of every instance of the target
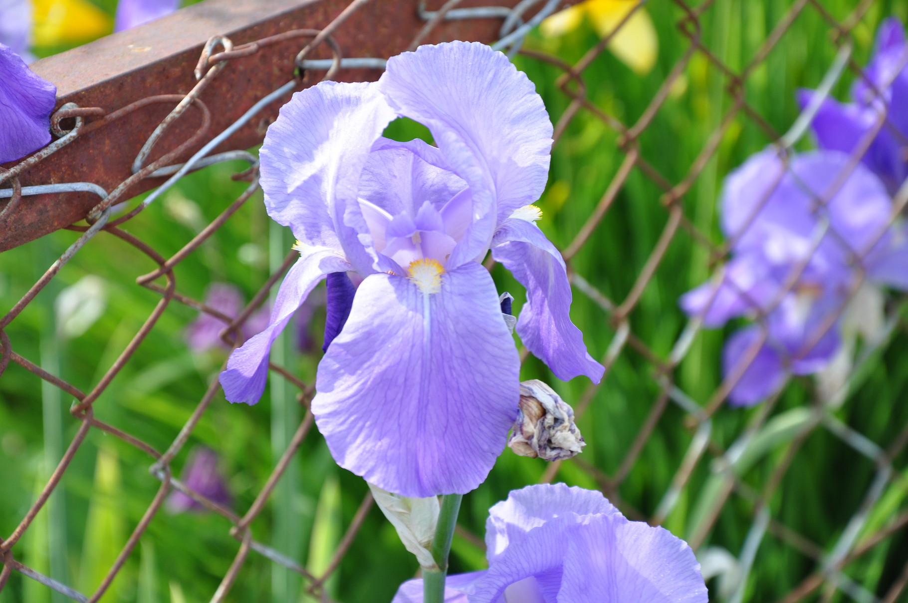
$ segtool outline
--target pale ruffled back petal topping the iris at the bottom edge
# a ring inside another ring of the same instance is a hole
[[[618,513],[602,492],[568,487],[566,484],[536,484],[511,490],[508,499],[489,509],[486,520],[486,557],[489,563],[524,539],[527,532],[565,514]]]

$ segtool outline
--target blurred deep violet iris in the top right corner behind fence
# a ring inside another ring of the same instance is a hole
[[[854,83],[854,103],[824,99],[814,118],[814,133],[821,148],[853,153],[885,112],[886,124],[873,139],[862,161],[879,176],[890,193],[908,177],[908,44],[902,23],[891,17],[883,21],[876,35],[873,59],[864,70],[873,87],[864,79]],[[876,89],[875,92],[873,88]],[[802,109],[816,94],[802,90]]]

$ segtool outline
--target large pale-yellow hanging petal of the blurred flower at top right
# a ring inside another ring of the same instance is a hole
[[[636,0],[587,0],[587,12],[597,34],[606,37],[637,4]],[[659,41],[646,9],[630,16],[608,43],[608,49],[637,74],[646,74],[653,68]]]

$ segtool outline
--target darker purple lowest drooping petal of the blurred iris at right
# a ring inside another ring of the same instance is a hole
[[[737,331],[722,351],[723,374],[727,377],[738,371],[738,364],[749,356],[750,347],[760,339],[760,328],[753,326]],[[765,342],[756,352],[754,360],[747,365],[741,379],[728,394],[728,401],[734,406],[752,406],[764,400],[782,385],[785,380],[785,366],[779,354]]]

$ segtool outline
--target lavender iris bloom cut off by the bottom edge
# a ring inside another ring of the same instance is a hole
[[[489,569],[450,576],[446,603],[706,603],[700,564],[664,528],[628,521],[600,492],[540,484],[489,509]],[[422,580],[392,603],[422,603]]]

